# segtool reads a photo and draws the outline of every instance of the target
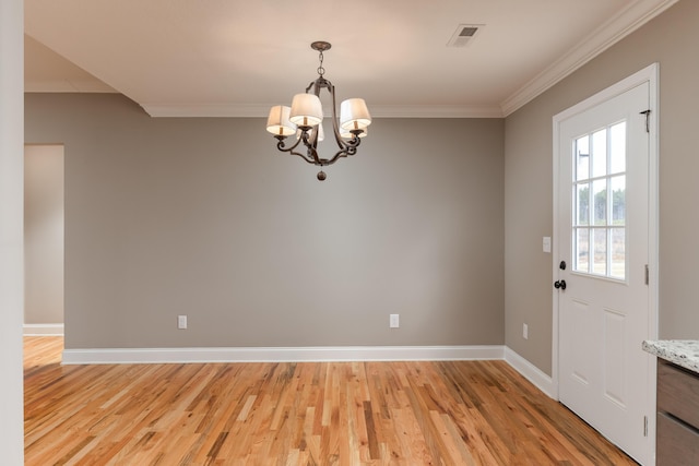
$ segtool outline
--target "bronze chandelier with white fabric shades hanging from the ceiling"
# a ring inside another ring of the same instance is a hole
[[[320,40],[312,43],[310,47],[319,53],[318,77],[306,87],[306,93],[294,96],[291,107],[276,105],[270,109],[266,130],[276,138],[276,148],[281,152],[298,155],[309,164],[320,166],[318,179],[323,181],[327,175],[322,167],[357,153],[360,138],[366,136],[367,127],[371,124],[371,117],[363,98],[350,98],[340,105],[337,119],[335,86],[323,76],[323,52],[330,50],[331,45]],[[320,92],[323,88],[332,98],[332,135],[340,148],[331,158],[318,155],[318,143],[324,139],[323,109],[320,101]],[[286,138],[291,135],[296,135],[296,141],[287,146]]]

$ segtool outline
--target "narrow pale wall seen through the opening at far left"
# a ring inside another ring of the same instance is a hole
[[[24,323],[63,323],[63,146],[24,150]]]

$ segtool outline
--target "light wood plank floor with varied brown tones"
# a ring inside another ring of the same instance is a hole
[[[25,337],[27,465],[633,465],[503,361],[60,366]]]

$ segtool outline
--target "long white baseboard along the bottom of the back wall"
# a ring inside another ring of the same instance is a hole
[[[66,349],[63,365],[503,359],[501,345]]]

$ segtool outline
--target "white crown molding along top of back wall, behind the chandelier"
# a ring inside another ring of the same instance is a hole
[[[156,105],[141,107],[154,118],[266,118],[272,104],[249,105]],[[374,118],[502,118],[499,106],[372,105]]]

